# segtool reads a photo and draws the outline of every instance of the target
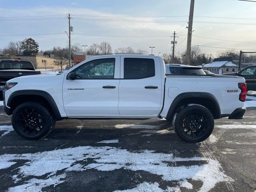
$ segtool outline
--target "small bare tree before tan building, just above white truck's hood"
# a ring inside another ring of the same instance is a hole
[[[66,66],[68,64],[67,49],[61,47],[54,47],[53,53],[56,57],[55,65],[58,67],[60,66],[60,71],[62,72],[63,66]]]

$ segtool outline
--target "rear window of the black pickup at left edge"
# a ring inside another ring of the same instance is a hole
[[[29,61],[1,61],[0,70],[23,69],[34,70],[34,66]]]

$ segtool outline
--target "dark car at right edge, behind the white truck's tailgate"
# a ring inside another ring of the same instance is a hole
[[[223,75],[233,75],[245,78],[247,90],[256,91],[256,65],[248,66],[235,73],[225,73]]]

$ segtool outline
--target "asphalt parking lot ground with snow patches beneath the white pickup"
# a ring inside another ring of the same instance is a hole
[[[160,119],[62,120],[24,140],[0,106],[0,191],[253,192],[255,160],[254,107],[191,144]]]

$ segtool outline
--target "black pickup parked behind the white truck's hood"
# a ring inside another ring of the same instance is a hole
[[[12,78],[41,74],[36,71],[30,61],[23,60],[1,60],[0,61],[0,98],[3,97],[2,90],[6,82]]]

